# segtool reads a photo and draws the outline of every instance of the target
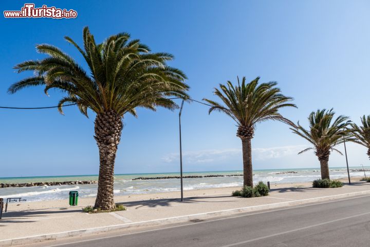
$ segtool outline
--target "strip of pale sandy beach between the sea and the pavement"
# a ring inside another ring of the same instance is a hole
[[[359,182],[361,177],[351,177],[351,182]],[[339,179],[343,183],[347,183],[348,179]],[[271,190],[281,188],[307,188],[312,187],[312,182],[298,182],[298,183],[271,183]],[[199,197],[201,195],[225,195],[231,196],[233,190],[240,189],[240,186],[233,187],[222,187],[222,188],[205,188],[205,189],[192,189],[184,190],[184,197]],[[335,188],[332,188],[335,189]],[[180,197],[180,191],[169,191],[169,192],[157,192],[157,193],[140,193],[126,196],[115,196],[116,203],[128,203],[132,201],[150,201],[157,199],[168,199],[176,200]],[[79,198],[79,205],[73,206],[73,208],[80,209],[84,206],[94,205],[96,197]],[[68,195],[64,200],[47,200],[47,201],[33,201],[33,202],[21,202],[21,203],[9,203],[8,211],[24,211],[24,210],[37,210],[37,209],[48,209],[48,208],[71,208],[68,205]]]

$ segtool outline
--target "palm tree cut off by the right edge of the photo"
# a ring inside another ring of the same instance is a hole
[[[362,126],[352,123],[352,142],[358,143],[367,148],[367,156],[370,158],[370,115],[361,117]]]

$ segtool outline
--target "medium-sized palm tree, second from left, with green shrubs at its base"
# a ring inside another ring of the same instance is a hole
[[[238,84],[236,86],[230,81],[227,82],[227,85],[219,84],[220,90],[215,88],[214,94],[224,102],[225,106],[204,99],[211,104],[209,113],[213,111],[224,112],[236,122],[238,127],[236,136],[242,139],[244,186],[252,187],[251,139],[254,135],[255,125],[267,120],[279,120],[294,126],[294,123],[279,113],[279,109],[296,107],[295,104],[289,103],[293,98],[284,96],[280,89],[275,87],[276,82],[258,85],[258,80],[260,77],[246,83],[246,78],[243,77],[242,84],[237,78]]]

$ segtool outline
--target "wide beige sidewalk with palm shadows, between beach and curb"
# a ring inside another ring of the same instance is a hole
[[[116,201],[123,203],[126,211],[101,214],[83,213],[82,206],[18,210],[14,204],[10,204],[10,210],[17,210],[4,213],[0,220],[0,246],[370,195],[370,183],[365,182],[328,189],[308,186],[272,188],[269,196],[260,198],[231,197],[233,189],[185,191],[183,202],[177,198],[135,200],[135,196],[126,197],[125,200]],[[81,204],[91,201],[93,199],[81,200]]]

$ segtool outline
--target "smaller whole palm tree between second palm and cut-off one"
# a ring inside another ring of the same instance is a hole
[[[308,150],[315,150],[316,156],[319,158],[321,167],[321,178],[330,179],[329,176],[329,155],[330,151],[335,150],[342,154],[334,147],[343,143],[343,136],[347,136],[349,130],[348,117],[340,115],[334,121],[335,112],[330,110],[317,110],[311,112],[308,117],[309,129],[303,128],[300,123],[296,127],[290,128],[293,133],[305,138],[313,145],[311,148],[306,148],[298,154],[304,153]]]

